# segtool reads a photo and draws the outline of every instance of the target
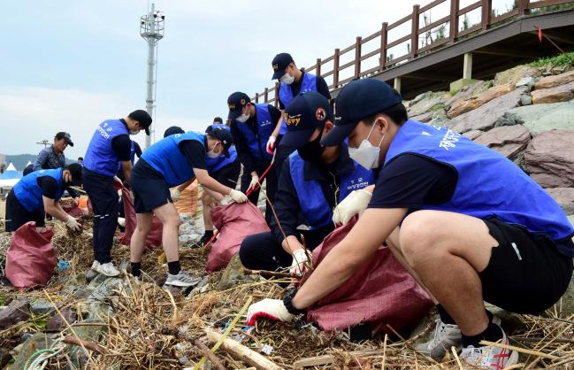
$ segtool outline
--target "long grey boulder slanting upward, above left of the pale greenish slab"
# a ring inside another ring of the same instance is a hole
[[[520,97],[526,90],[527,88],[520,88],[509,94],[499,96],[474,111],[464,113],[455,119],[449,120],[445,126],[461,134],[471,130],[487,131],[494,127],[494,123],[500,119],[505,112],[520,104]]]

